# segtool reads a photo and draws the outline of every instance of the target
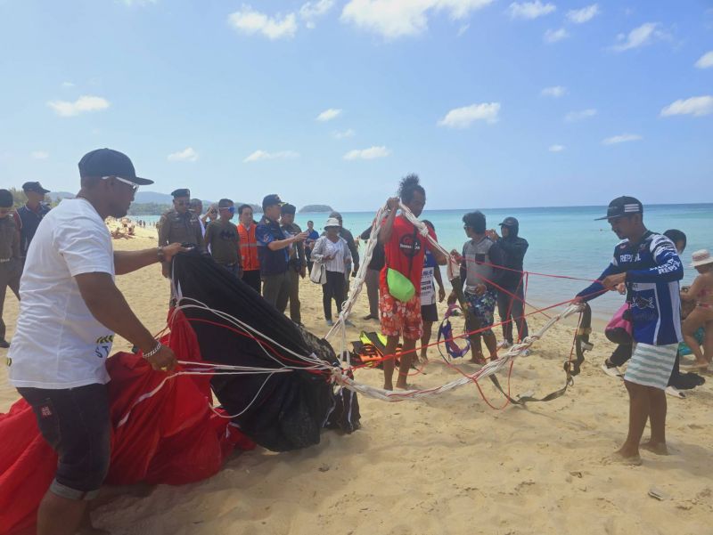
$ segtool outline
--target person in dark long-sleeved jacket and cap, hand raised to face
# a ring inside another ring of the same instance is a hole
[[[488,231],[488,238],[496,241],[503,251],[503,274],[496,288],[497,315],[503,323],[503,341],[498,347],[510,347],[514,341],[514,326],[518,329],[518,341],[528,336],[528,320],[525,319],[525,281],[522,277],[527,239],[520,238],[520,223],[514,217],[505,217],[500,223],[498,236],[495,230]]]

